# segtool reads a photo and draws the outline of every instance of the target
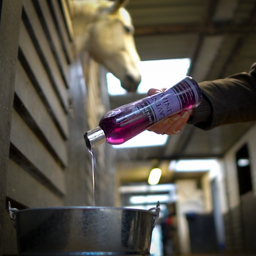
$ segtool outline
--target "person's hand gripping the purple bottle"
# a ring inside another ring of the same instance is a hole
[[[148,95],[151,96],[156,93],[164,92],[166,89],[150,89],[148,91]],[[175,115],[164,118],[164,120],[158,122],[157,124],[152,125],[148,130],[154,131],[157,134],[167,134],[167,135],[175,135],[179,134],[186,122],[188,121],[190,115],[192,115],[193,109],[189,109],[188,111],[182,111],[180,113],[176,113]]]

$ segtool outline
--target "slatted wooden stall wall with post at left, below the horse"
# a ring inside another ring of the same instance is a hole
[[[0,6],[0,254],[16,255],[8,202],[17,209],[93,205],[83,135],[98,125],[108,98],[106,71],[75,52],[65,0]],[[113,206],[113,149],[100,145],[94,154],[96,205]]]

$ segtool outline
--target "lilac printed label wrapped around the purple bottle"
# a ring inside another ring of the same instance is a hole
[[[190,109],[198,101],[195,85],[187,77],[174,88],[146,98],[153,109],[156,122],[179,113],[182,109]]]

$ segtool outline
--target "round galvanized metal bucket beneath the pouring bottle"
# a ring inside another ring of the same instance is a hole
[[[19,255],[150,255],[157,207],[51,207],[9,213]]]

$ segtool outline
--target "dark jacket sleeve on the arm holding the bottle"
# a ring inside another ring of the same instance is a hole
[[[193,110],[188,124],[203,130],[256,120],[256,62],[249,73],[199,83],[202,103]]]

